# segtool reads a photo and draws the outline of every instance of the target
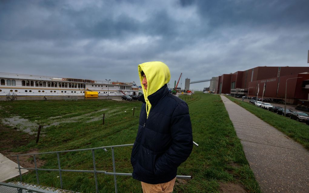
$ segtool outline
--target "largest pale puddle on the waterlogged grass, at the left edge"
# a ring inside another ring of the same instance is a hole
[[[35,131],[39,128],[38,124],[30,122],[28,119],[20,118],[19,116],[4,118],[2,119],[2,123],[16,127],[19,131],[23,131],[31,135],[36,134]]]

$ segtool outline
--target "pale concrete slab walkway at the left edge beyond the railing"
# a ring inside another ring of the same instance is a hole
[[[19,176],[19,170],[15,167],[18,167],[17,163],[0,153],[0,182]],[[20,170],[20,172],[23,174],[28,170]]]

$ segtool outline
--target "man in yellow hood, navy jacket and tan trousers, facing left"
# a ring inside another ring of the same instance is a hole
[[[193,147],[188,105],[169,93],[170,71],[159,61],[138,65],[144,94],[138,133],[131,153],[133,178],[143,192],[172,192],[177,167]]]

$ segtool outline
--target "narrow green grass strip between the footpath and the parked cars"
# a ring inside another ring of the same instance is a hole
[[[309,150],[309,126],[271,111],[258,108],[250,103],[240,101],[230,96],[228,99],[256,115],[261,120],[277,128]]]

